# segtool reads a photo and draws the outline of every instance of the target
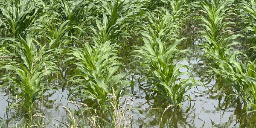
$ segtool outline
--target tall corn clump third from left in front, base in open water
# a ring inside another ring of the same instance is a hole
[[[146,16],[152,27],[144,27],[145,31],[141,32],[144,46],[137,47],[134,52],[138,53],[136,57],[143,60],[141,65],[143,70],[140,72],[146,78],[153,80],[154,86],[151,90],[165,98],[169,104],[181,108],[186,91],[199,82],[192,78],[180,79],[183,75],[192,75],[179,70],[181,67],[192,70],[190,67],[183,64],[177,65],[180,54],[188,50],[177,49],[180,41],[185,38],[175,39],[177,37],[175,29],[178,26],[175,25],[174,18],[169,18],[171,16],[169,11],[165,10],[165,13],[162,18],[155,17],[150,12],[147,13]]]

